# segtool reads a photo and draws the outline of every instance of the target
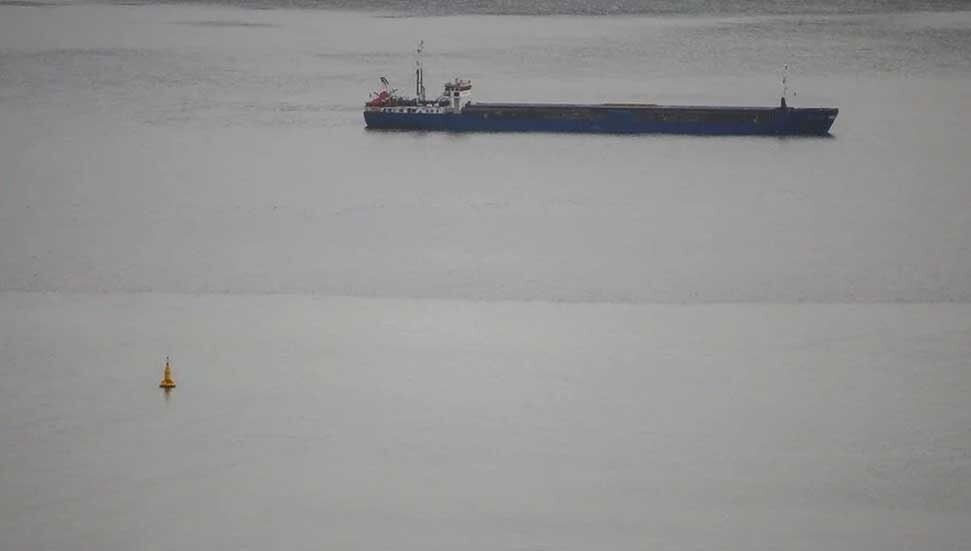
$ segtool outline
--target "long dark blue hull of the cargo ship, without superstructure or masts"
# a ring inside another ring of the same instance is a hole
[[[373,129],[451,132],[824,136],[837,113],[835,108],[470,104],[459,113],[366,110],[364,121]]]

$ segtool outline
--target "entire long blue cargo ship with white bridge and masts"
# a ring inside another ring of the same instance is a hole
[[[777,106],[728,107],[650,103],[478,103],[472,82],[445,83],[442,94],[426,99],[422,46],[418,47],[415,97],[399,96],[387,78],[364,106],[369,129],[452,132],[585,132],[613,134],[696,134],[827,136],[835,107],[789,107],[787,72]]]

